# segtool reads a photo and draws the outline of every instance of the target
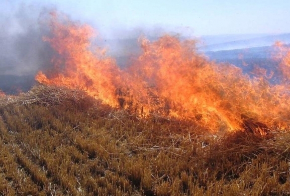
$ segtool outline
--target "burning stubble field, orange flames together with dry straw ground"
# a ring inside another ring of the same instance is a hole
[[[0,95],[2,195],[290,196],[287,48],[273,85],[169,35],[121,70],[90,26],[49,25],[49,86]]]

